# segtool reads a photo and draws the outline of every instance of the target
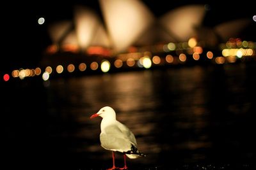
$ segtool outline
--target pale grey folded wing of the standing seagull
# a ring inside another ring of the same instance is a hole
[[[101,146],[107,150],[127,152],[131,145],[136,146],[136,139],[129,129],[123,124],[109,125],[100,133]]]

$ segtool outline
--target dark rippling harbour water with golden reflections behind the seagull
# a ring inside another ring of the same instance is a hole
[[[255,70],[243,63],[4,85],[4,161],[35,169],[111,167],[111,152],[100,146],[101,118],[90,119],[111,106],[147,155],[127,159],[132,169],[253,169],[255,85]],[[122,161],[116,153],[116,164]]]

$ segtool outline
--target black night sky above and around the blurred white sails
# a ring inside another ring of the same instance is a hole
[[[203,25],[207,27],[213,27],[221,22],[235,18],[252,18],[253,15],[256,15],[253,4],[241,4],[241,2],[239,4],[225,4],[224,6],[215,1],[214,3],[213,1],[165,0],[143,2],[156,17],[160,17],[167,11],[186,4],[205,4],[208,10]],[[63,19],[72,20],[74,6],[77,4],[92,8],[102,17],[99,1],[34,1],[32,3],[9,1],[1,4],[2,57],[0,71],[35,66],[42,57],[42,51],[51,44],[51,39],[47,34],[47,25]],[[232,6],[233,8],[225,10],[227,6]],[[237,9],[241,10],[239,15],[236,14]],[[217,13],[222,15],[217,15]],[[45,17],[44,25],[38,25],[37,20],[39,17]],[[255,34],[252,34],[253,29],[256,30],[255,25],[256,22],[252,21],[252,27],[244,31],[244,37],[250,38],[246,40],[254,41],[256,39]]]

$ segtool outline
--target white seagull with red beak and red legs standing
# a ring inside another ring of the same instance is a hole
[[[137,142],[134,134],[130,129],[116,120],[116,112],[113,108],[105,106],[90,118],[102,117],[100,123],[100,145],[106,150],[112,151],[113,167],[112,169],[127,169],[126,156],[129,159],[136,159],[138,157],[145,157],[137,148]],[[122,152],[124,154],[124,167],[119,168],[115,166],[115,152]]]

